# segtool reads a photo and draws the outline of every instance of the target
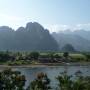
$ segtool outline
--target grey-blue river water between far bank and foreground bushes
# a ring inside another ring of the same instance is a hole
[[[37,73],[44,72],[48,75],[51,80],[51,86],[54,87],[57,85],[56,76],[61,72],[67,71],[69,75],[74,75],[75,72],[80,70],[83,75],[90,76],[90,66],[53,66],[53,67],[29,67],[29,68],[13,68],[14,70],[20,71],[23,75],[26,76],[26,86],[36,78]]]

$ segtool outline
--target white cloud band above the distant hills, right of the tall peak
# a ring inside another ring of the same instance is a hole
[[[87,24],[76,24],[76,25],[63,25],[63,24],[53,24],[53,25],[48,25],[47,28],[49,29],[50,32],[59,32],[59,31],[65,31],[65,30],[90,30],[90,23]]]

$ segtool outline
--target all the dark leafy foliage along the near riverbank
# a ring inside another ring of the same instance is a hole
[[[25,76],[18,71],[7,69],[0,72],[0,90],[90,90],[90,76],[83,76],[81,71],[77,71],[74,76],[63,72],[56,79],[57,89],[53,89],[47,74],[41,72],[25,89]]]

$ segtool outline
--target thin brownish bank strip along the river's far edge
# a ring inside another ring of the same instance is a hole
[[[90,66],[90,62],[74,62],[74,63],[39,63],[28,65],[0,65],[0,68],[33,68],[33,67],[58,67],[58,66]]]

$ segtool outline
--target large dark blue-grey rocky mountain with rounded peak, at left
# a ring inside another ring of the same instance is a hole
[[[47,29],[37,22],[29,22],[16,31],[8,26],[0,27],[0,50],[55,51],[58,44]]]

